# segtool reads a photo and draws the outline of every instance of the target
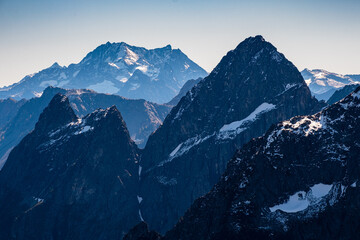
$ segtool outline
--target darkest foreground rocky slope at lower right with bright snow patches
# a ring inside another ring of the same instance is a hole
[[[232,158],[164,239],[358,239],[360,88]]]

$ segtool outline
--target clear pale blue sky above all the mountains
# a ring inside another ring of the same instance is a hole
[[[171,44],[210,72],[257,34],[299,70],[360,73],[359,0],[0,0],[0,86],[107,41]]]

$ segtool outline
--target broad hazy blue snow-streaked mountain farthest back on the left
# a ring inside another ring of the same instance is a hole
[[[170,45],[148,50],[124,42],[108,42],[78,64],[61,67],[54,63],[19,83],[1,88],[0,98],[29,99],[40,96],[47,86],[54,86],[166,103],[187,80],[206,75],[204,69]]]

